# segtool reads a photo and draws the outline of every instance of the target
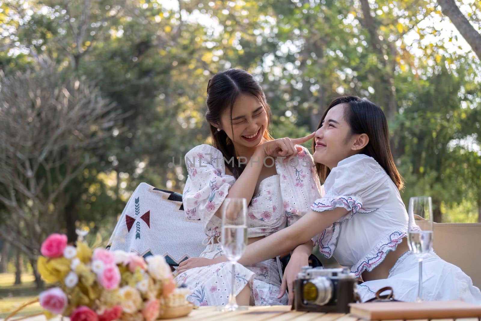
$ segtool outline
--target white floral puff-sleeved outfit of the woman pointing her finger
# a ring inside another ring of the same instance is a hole
[[[207,237],[201,257],[221,256],[222,246],[214,243],[214,237],[220,236],[221,219],[214,213],[226,199],[235,178],[226,174],[222,153],[210,145],[194,147],[185,160],[189,172],[183,193],[186,218],[200,219],[203,224]],[[293,224],[320,197],[314,162],[305,148],[289,162],[276,159],[275,166],[278,174],[260,182],[259,192],[248,206],[248,237],[266,236]],[[235,294],[249,283],[255,305],[287,304],[287,295],[277,298],[279,269],[276,259],[247,267],[237,264]],[[228,303],[231,273],[231,263],[224,262],[188,270],[179,274],[176,281],[190,288],[188,299],[192,303],[222,306]]]

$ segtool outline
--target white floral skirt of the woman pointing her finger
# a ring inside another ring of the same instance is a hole
[[[221,244],[209,244],[201,257],[215,258],[223,254]],[[232,287],[232,263],[223,262],[201,268],[187,270],[176,277],[178,284],[189,287],[191,294],[187,299],[196,306],[227,305]],[[278,299],[280,275],[275,259],[247,267],[236,263],[234,293],[237,296],[249,284],[251,298],[256,306],[286,305],[284,294]]]

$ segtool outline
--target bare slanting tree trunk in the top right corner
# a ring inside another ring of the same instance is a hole
[[[471,46],[471,49],[481,59],[481,34],[474,29],[468,19],[459,10],[454,0],[438,0],[441,11],[451,20],[457,31]]]

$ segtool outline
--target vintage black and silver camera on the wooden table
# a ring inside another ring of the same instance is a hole
[[[303,267],[294,280],[294,305],[298,311],[349,313],[357,301],[357,279],[349,269]]]

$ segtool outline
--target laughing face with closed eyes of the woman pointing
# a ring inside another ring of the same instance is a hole
[[[234,142],[236,150],[239,147],[253,148],[263,142],[269,122],[266,108],[250,94],[239,95],[232,108],[232,117],[227,109],[220,120],[221,129]]]

